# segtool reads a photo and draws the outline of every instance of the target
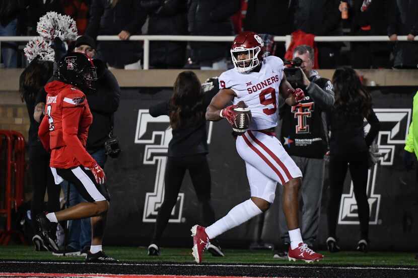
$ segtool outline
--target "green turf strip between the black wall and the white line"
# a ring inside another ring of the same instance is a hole
[[[160,256],[148,256],[146,247],[106,246],[107,254],[124,261],[137,262],[193,262],[189,248],[162,248]],[[213,257],[204,253],[203,262],[210,263],[290,263],[288,260],[273,258],[272,251],[248,249],[225,249],[225,257]],[[413,253],[407,252],[321,252],[325,258],[315,264],[357,264],[357,265],[418,265]],[[81,257],[58,257],[50,252],[35,252],[33,246],[0,246],[0,259],[24,260],[83,260]],[[303,263],[305,262],[292,262]]]

